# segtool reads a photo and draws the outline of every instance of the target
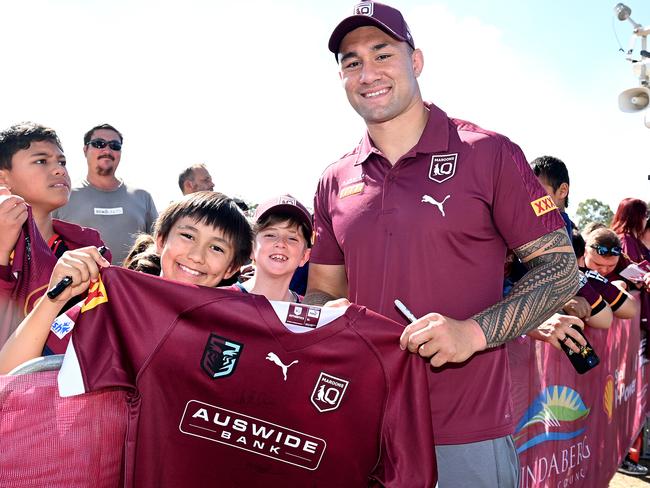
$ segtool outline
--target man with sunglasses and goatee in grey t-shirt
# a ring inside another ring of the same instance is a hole
[[[84,135],[86,179],[72,189],[70,201],[56,217],[97,229],[121,264],[134,235],[150,232],[158,212],[151,195],[127,185],[115,176],[122,157],[122,134],[112,125],[101,124]]]

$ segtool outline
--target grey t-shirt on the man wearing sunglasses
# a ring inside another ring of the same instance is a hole
[[[104,191],[84,180],[81,186],[72,189],[68,204],[56,210],[53,216],[97,229],[113,253],[113,264],[120,265],[135,235],[151,232],[158,211],[145,190],[122,181],[117,189]]]

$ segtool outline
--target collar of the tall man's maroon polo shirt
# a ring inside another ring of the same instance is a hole
[[[433,103],[424,102],[429,109],[429,119],[420,140],[409,153],[433,154],[447,151],[449,148],[449,118],[447,114]],[[361,139],[357,150],[357,159],[354,165],[364,163],[371,154],[379,153],[370,139],[368,131]]]

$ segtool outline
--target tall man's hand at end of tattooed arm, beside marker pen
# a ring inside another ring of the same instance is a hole
[[[435,367],[462,363],[486,346],[485,334],[475,320],[455,320],[438,313],[419,318],[400,337],[402,349],[430,358]]]

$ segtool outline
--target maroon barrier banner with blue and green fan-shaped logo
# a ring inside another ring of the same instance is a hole
[[[607,487],[643,428],[650,366],[639,317],[585,334],[600,364],[584,375],[545,343],[507,346],[520,488]]]

